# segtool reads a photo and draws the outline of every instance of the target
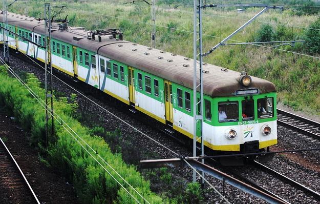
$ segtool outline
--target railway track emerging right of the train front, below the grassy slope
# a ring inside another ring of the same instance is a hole
[[[320,140],[320,123],[281,109],[276,111],[278,113],[278,125],[295,130],[315,140]]]

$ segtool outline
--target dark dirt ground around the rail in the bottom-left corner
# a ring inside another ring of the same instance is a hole
[[[40,203],[78,203],[73,187],[39,161],[38,153],[29,145],[26,135],[13,118],[0,112],[0,137],[5,140]],[[0,185],[0,204],[25,203],[17,202],[18,195],[3,184]]]

